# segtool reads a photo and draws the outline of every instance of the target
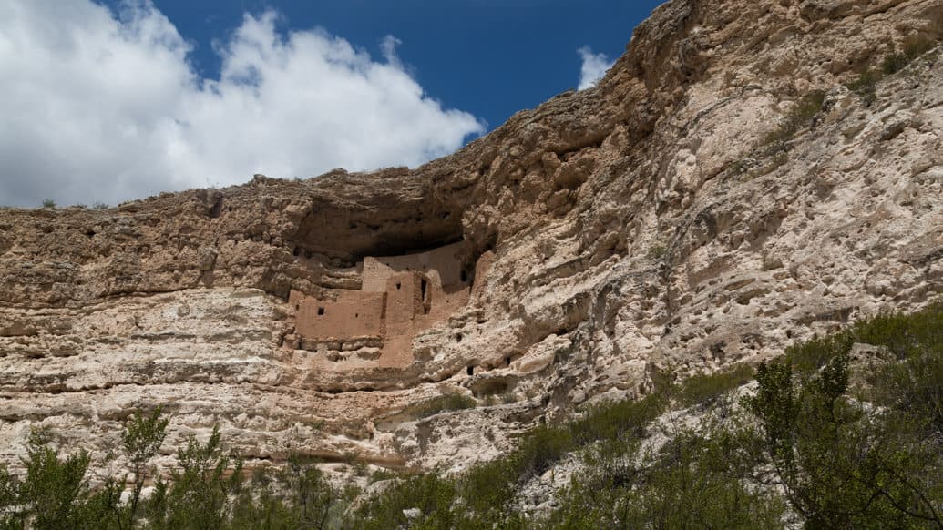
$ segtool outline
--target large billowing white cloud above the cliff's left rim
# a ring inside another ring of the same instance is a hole
[[[0,2],[0,205],[115,204],[161,190],[415,166],[484,125],[323,29],[245,15],[219,78],[147,0]]]

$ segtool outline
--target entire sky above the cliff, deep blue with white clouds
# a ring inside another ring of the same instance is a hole
[[[0,0],[0,205],[416,167],[587,86],[658,4]]]

